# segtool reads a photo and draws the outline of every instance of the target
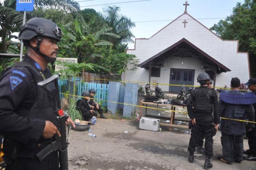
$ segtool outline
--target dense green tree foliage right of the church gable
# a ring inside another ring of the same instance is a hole
[[[252,77],[256,77],[256,1],[237,3],[225,20],[211,27],[223,39],[238,39],[239,51],[249,52]]]

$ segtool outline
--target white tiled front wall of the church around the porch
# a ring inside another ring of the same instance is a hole
[[[188,23],[186,23],[186,27],[184,28],[184,23],[182,22],[185,19]],[[139,59],[139,63],[142,63],[143,61],[153,57],[155,54],[173,45],[177,41],[180,41],[182,38],[186,38],[193,45],[197,46],[231,70],[227,73],[217,74],[216,86],[229,86],[232,77],[240,78],[241,82],[246,82],[249,79],[247,54],[237,53],[238,42],[223,41],[187,14],[180,16],[180,18],[174,20],[173,23],[167,25],[164,29],[160,30],[149,39],[136,39],[135,50],[127,50],[127,53],[135,54]],[[195,65],[191,65],[191,67],[192,66],[195,68],[190,69],[198,68]],[[169,67],[173,67],[173,65],[170,65]],[[182,69],[184,67],[182,65],[175,65],[174,68]],[[167,73],[167,71],[163,72],[163,74],[170,74],[170,70],[168,72],[169,73]],[[195,72],[195,79],[198,73],[200,72]],[[146,80],[145,82],[147,82],[148,71],[142,68],[139,68],[136,71],[129,71],[126,73],[125,80]],[[169,77],[168,80],[166,80],[166,76],[161,76],[159,83],[166,82],[169,83]]]

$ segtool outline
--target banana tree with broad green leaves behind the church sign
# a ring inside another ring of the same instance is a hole
[[[102,37],[112,37],[120,38],[120,36],[110,33],[112,28],[103,26],[101,30],[92,33],[90,24],[93,22],[93,19],[89,23],[86,23],[82,15],[78,15],[75,19],[75,22],[70,22],[62,26],[63,28],[63,40],[59,44],[60,51],[64,50],[64,57],[67,55],[77,56],[80,61],[88,62],[89,58],[102,57],[97,47],[101,48],[103,46],[112,46],[113,44],[109,41],[105,41]]]

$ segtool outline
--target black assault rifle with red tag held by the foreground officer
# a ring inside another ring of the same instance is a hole
[[[53,100],[54,116],[53,123],[61,133],[61,137],[54,135],[55,140],[48,146],[42,149],[37,157],[40,161],[44,160],[49,154],[54,151],[59,152],[60,159],[60,170],[68,170],[68,142],[66,135],[66,124],[68,114],[63,112],[60,104],[59,86],[58,86],[58,75],[53,75],[50,78],[37,83],[38,86],[44,88],[48,92]]]

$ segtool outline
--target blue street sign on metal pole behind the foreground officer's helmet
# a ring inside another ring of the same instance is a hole
[[[26,22],[26,11],[33,11],[33,10],[34,10],[34,0],[17,0],[16,11],[24,11],[23,25],[25,25],[25,22]],[[22,61],[23,45],[24,44],[21,41],[19,61]]]

